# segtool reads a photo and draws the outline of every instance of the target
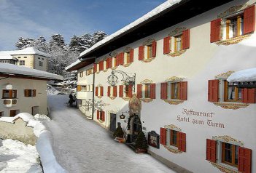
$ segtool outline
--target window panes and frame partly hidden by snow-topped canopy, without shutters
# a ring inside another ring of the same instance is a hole
[[[238,87],[230,87],[230,83],[228,81],[224,81],[224,101],[225,102],[241,102],[242,101],[242,93],[241,88]]]

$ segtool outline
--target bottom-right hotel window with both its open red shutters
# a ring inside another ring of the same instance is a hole
[[[233,166],[238,172],[251,172],[251,149],[241,147],[241,143],[219,140],[219,137],[214,139],[206,139],[206,160],[221,165],[222,169]]]

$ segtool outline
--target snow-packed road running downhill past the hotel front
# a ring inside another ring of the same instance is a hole
[[[148,154],[136,154],[115,142],[94,121],[79,110],[68,108],[68,95],[49,95],[55,156],[68,172],[173,172]]]

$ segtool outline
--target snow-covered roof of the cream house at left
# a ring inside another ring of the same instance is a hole
[[[18,65],[0,63],[0,74],[17,75],[17,76],[28,76],[42,79],[55,79],[63,80],[63,76],[59,76],[53,73],[45,71],[39,71],[31,68],[26,68]]]

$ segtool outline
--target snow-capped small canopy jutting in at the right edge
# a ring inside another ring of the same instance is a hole
[[[256,81],[256,68],[249,68],[243,71],[232,73],[227,81],[241,82],[241,81]]]

